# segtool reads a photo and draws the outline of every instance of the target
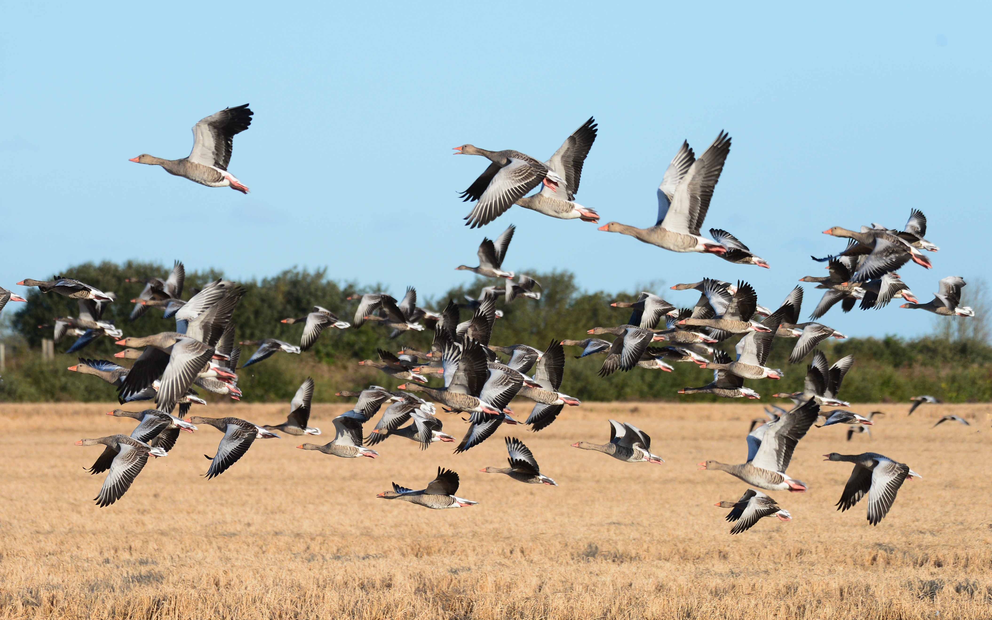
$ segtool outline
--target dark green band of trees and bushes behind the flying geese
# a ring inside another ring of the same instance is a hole
[[[175,328],[173,319],[163,319],[162,310],[151,309],[134,322],[127,316],[132,309],[129,300],[138,296],[144,285],[126,283],[126,278],[165,277],[168,267],[148,263],[128,262],[124,265],[86,263],[64,271],[63,276],[77,278],[103,291],[114,291],[118,302],[112,304],[104,317],[115,321],[126,335],[148,335]],[[187,272],[185,298],[190,288],[199,288],[206,282],[221,277],[214,272]],[[583,292],[568,272],[537,274],[544,287],[542,299],[534,301],[519,298],[512,305],[498,308],[504,316],[496,320],[493,344],[524,343],[546,348],[552,341],[581,340],[586,331],[595,326],[613,326],[626,322],[630,310],[611,308],[614,301],[631,301],[636,292],[608,293]],[[464,296],[478,296],[479,290],[491,281],[476,278],[469,285],[451,289],[436,300],[423,297],[419,305],[440,310],[448,300],[465,303]],[[271,337],[287,342],[299,342],[302,324],[286,324],[283,318],[306,315],[312,306],[322,306],[337,313],[342,320],[353,321],[357,300],[347,298],[356,293],[378,291],[377,287],[362,288],[354,283],[336,283],[327,280],[323,270],[310,272],[291,269],[260,282],[244,282],[245,296],[234,312],[239,340],[258,340]],[[400,295],[397,295],[400,297]],[[75,356],[57,355],[55,361],[42,360],[41,338],[51,337],[51,327],[39,329],[38,325],[52,324],[60,315],[76,315],[77,305],[56,294],[43,295],[37,289],[28,295],[29,303],[22,305],[13,315],[11,325],[15,336],[6,338],[8,343],[8,370],[0,383],[0,399],[5,401],[111,401],[115,392],[109,385],[95,377],[66,372],[64,368],[75,363]],[[8,307],[8,312],[13,310]],[[977,309],[976,309],[977,310]],[[471,310],[461,310],[462,320]],[[941,317],[944,318],[944,317]],[[947,320],[964,320],[947,318]],[[960,329],[953,331],[957,334]],[[965,332],[961,332],[965,333]],[[971,333],[971,332],[967,332]],[[397,339],[388,338],[389,330],[367,322],[360,329],[326,329],[310,351],[300,356],[276,353],[273,357],[239,371],[239,387],[246,401],[276,401],[292,398],[297,387],[307,377],[316,383],[315,399],[334,402],[334,392],[354,390],[369,383],[388,388],[398,383],[386,375],[358,366],[361,359],[376,359],[376,348],[397,351],[404,346],[421,350],[430,347],[430,331],[406,332]],[[608,336],[608,338],[611,336]],[[57,345],[67,349],[73,338],[67,337]],[[730,353],[737,338],[721,344]],[[806,374],[803,364],[788,364],[789,353],[796,340],[776,338],[769,365],[782,368],[786,376],[781,381],[749,381],[746,384],[771,401],[776,392],[794,392],[802,389]],[[244,347],[242,361],[254,350]],[[896,336],[884,338],[829,339],[820,345],[832,363],[853,354],[856,363],[844,380],[841,397],[851,402],[905,401],[910,396],[930,393],[949,402],[989,400],[992,398],[992,347],[975,337],[949,338],[936,334],[930,338],[905,340]],[[79,352],[82,357],[112,359],[120,350],[110,338],[100,338]],[[561,390],[576,398],[590,401],[664,400],[681,402],[715,402],[720,399],[703,395],[678,394],[683,387],[708,383],[712,373],[699,370],[694,364],[676,364],[674,372],[636,368],[630,372],[617,372],[608,377],[597,376],[604,355],[573,359],[581,351],[578,347],[565,347],[568,355]],[[117,360],[120,361],[120,360]],[[208,398],[210,398],[208,396]]]

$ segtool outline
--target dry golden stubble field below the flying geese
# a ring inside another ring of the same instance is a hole
[[[113,406],[110,406],[112,408]],[[314,406],[332,430],[347,406]],[[138,408],[135,408],[138,409]],[[527,411],[526,405],[517,409]],[[772,493],[793,521],[730,536],[718,500],[745,485],[706,458],[741,462],[760,405],[590,404],[546,431],[500,429],[464,454],[391,437],[377,459],[259,440],[231,469],[200,477],[220,433],[183,434],[108,508],[83,471],[130,433],[98,405],[0,405],[0,618],[988,618],[992,470],[987,405],[879,409],[874,437],[812,429],[789,472],[805,494]],[[206,416],[281,422],[286,405],[232,404]],[[972,427],[943,424],[945,413]],[[445,431],[462,423],[442,414]],[[651,434],[666,463],[622,463],[570,443],[605,442],[608,418]],[[976,432],[979,431],[979,432]],[[480,473],[505,466],[520,436],[560,486]],[[324,441],[320,441],[324,442]],[[828,451],[878,451],[924,478],[907,482],[878,526],[865,500],[833,504],[850,473]],[[438,465],[461,475],[474,507],[432,511],[376,498],[391,481],[423,488]]]

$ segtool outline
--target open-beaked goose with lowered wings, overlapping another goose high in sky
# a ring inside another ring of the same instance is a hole
[[[465,216],[466,226],[484,226],[502,215],[524,197],[528,191],[542,183],[557,189],[564,183],[558,174],[529,155],[519,151],[486,151],[470,144],[454,147],[454,155],[481,155],[492,164],[475,182],[458,196],[463,202],[478,202]]]

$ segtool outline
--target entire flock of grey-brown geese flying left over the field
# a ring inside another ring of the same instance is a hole
[[[233,137],[250,127],[252,115],[245,104],[203,118],[193,126],[193,147],[186,158],[165,160],[143,154],[131,161],[161,166],[171,175],[204,186],[226,186],[247,193],[248,187],[227,167]],[[599,214],[595,209],[575,201],[585,158],[597,131],[595,120],[589,118],[546,162],[515,150],[489,151],[471,144],[456,147],[455,155],[477,155],[490,162],[461,193],[465,201],[474,202],[465,216],[466,225],[475,228],[489,224],[513,205],[559,219],[598,223]],[[683,142],[658,187],[656,223],[638,228],[611,221],[599,230],[632,236],[672,252],[712,254],[737,265],[770,269],[766,260],[723,228],[710,228],[708,237],[700,233],[730,146],[730,136],[720,132],[697,158],[688,143]],[[539,190],[528,195],[534,189]],[[417,441],[422,449],[437,442],[455,443],[454,452],[463,453],[488,439],[504,424],[526,425],[534,432],[548,428],[565,407],[581,404],[578,399],[560,391],[565,346],[580,347],[581,351],[575,357],[603,354],[601,377],[635,368],[672,371],[673,364],[688,363],[712,370],[713,380],[700,387],[683,388],[680,394],[759,399],[761,395],[755,389],[745,387],[744,381],[781,379],[785,375],[783,369],[766,365],[769,353],[775,338],[793,338],[791,364],[800,364],[807,356],[812,356],[806,366],[804,389],[791,394],[777,393],[774,397],[790,399],[794,406],[766,410],[767,420],[752,422],[751,429],[744,435],[747,456],[743,462],[726,464],[710,459],[699,463],[700,469],[726,472],[747,487],[739,500],[716,504],[731,509],[726,517],[735,524],[731,534],[750,529],[764,517],[792,520],[790,512],[764,491],[799,493],[807,490],[806,483],[787,470],[797,445],[810,428],[845,425],[850,440],[853,434],[865,432],[874,424],[872,416],[877,413],[868,417],[855,414],[844,409],[849,404],[838,398],[842,380],[854,358],[847,356],[830,365],[824,353],[816,348],[826,338],[845,337],[818,322],[830,308],[840,303],[846,312],[860,302],[862,310],[880,310],[893,299],[900,298],[906,301],[901,308],[928,310],[940,316],[974,315],[973,310],[960,306],[961,288],[965,284],[960,277],[940,280],[933,301],[920,304],[896,273],[910,262],[930,269],[932,264],[924,252],[938,250],[925,238],[927,218],[913,209],[902,230],[872,223],[857,231],[840,226],[823,231],[848,241],[846,247],[838,247],[836,254],[813,259],[826,263],[827,276],[802,279],[805,283],[815,283],[815,288],[823,291],[822,299],[805,322],[801,321],[804,290],[800,286],[796,286],[781,305],[766,308],[759,305],[755,288],[743,280],[733,283],[705,278],[672,287],[677,291],[699,293],[691,308],[677,308],[650,292],[641,293],[635,302],[613,303],[614,308],[630,309],[629,319],[617,325],[592,325],[587,332],[594,336],[610,335],[612,339],[556,338],[548,343],[495,344],[491,342],[493,325],[502,315],[502,311],[496,309],[497,300],[502,297],[508,305],[517,300],[540,301],[542,295],[535,290],[542,288],[539,282],[505,267],[515,230],[516,227],[510,225],[495,240],[484,238],[478,249],[478,266],[455,267],[497,283],[483,288],[478,298],[468,298],[467,304],[449,301],[436,311],[421,308],[416,289],[410,287],[400,301],[385,293],[349,297],[347,301],[352,301],[355,307],[351,322],[314,305],[306,316],[283,319],[287,324],[303,324],[299,345],[275,338],[236,341],[232,315],[245,290],[234,282],[218,279],[183,300],[186,272],[179,261],[168,278],[141,280],[145,288],[131,300],[134,304],[131,321],[140,320],[151,308],[162,310],[165,317],[176,320],[175,331],[144,337],[124,336],[122,329],[102,319],[107,305],[117,301],[113,293],[104,293],[62,277],[51,281],[26,279],[18,284],[37,287],[45,294],[55,293],[78,300],[78,316],[55,318],[57,341],[66,333],[78,337],[67,352],[78,351],[106,335],[126,347],[115,357],[133,360],[130,367],[125,367],[110,360],[80,357],[78,364],[69,367],[70,371],[94,375],[115,386],[121,404],[154,403],[154,408],[143,411],[118,409],[109,412],[111,416],[137,421],[138,426],[131,434],[84,438],[76,442],[78,445],[104,446],[89,468],[93,474],[107,472],[96,497],[101,507],[121,499],[147,464],[149,455],[166,456],[182,432],[198,432],[201,427],[209,426],[222,434],[214,455],[206,456],[209,465],[203,475],[207,479],[220,476],[245,457],[256,439],[277,438],[282,434],[301,437],[321,434],[320,429],[310,427],[313,396],[310,378],[299,387],[285,422],[256,424],[240,418],[188,415],[194,404],[205,404],[196,388],[240,399],[237,370],[241,348],[237,345],[257,347],[240,366],[244,368],[277,353],[299,355],[309,350],[324,331],[333,329],[359,329],[369,323],[371,328],[381,325],[389,329],[390,338],[399,338],[407,331],[431,331],[430,350],[420,351],[409,346],[397,347],[396,352],[379,349],[378,359],[359,361],[359,364],[377,368],[403,383],[395,390],[370,385],[338,392],[339,397],[357,401],[353,409],[331,421],[333,438],[322,445],[302,443],[298,446],[341,458],[378,458],[380,450],[384,449],[381,444],[393,435]],[[0,289],[0,309],[9,301],[26,300]],[[321,301],[313,300],[314,304],[317,302]],[[464,321],[460,316],[463,309],[471,312]],[[664,325],[660,325],[662,321]],[[714,346],[732,337],[739,337],[735,356]],[[656,345],[662,341],[665,343]],[[534,405],[527,418],[518,421],[515,418],[518,414],[510,409],[510,404],[519,397],[533,401]],[[913,410],[923,403],[938,402],[930,396],[914,397],[914,401]],[[822,409],[824,407],[834,409],[827,411]],[[467,431],[460,439],[443,432],[437,408],[464,417]],[[365,434],[365,425],[380,410],[382,414],[377,424]],[[823,423],[815,425],[820,419]],[[967,424],[956,417],[945,417],[937,424],[947,420]],[[664,463],[662,456],[655,453],[661,451],[659,446],[653,445],[647,433],[615,420],[610,420],[609,425],[608,442],[577,441],[572,446],[603,452],[628,463]],[[505,442],[509,467],[486,466],[481,472],[504,474],[528,484],[558,486],[553,478],[543,473],[537,457],[520,438],[506,436]],[[853,464],[853,471],[836,505],[839,510],[846,511],[867,495],[867,518],[872,525],[877,525],[889,512],[903,482],[919,476],[908,465],[874,452],[831,452],[824,456],[830,461]],[[551,464],[554,468],[554,463]],[[475,505],[477,502],[457,495],[459,483],[456,472],[438,467],[434,479],[424,489],[413,490],[394,482],[391,491],[379,493],[378,497],[402,499],[433,509]]]

